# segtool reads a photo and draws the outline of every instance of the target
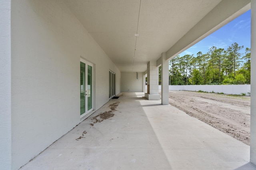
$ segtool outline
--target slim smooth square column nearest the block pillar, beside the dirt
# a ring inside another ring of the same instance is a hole
[[[161,55],[161,104],[169,104],[169,61],[166,61],[166,53]]]

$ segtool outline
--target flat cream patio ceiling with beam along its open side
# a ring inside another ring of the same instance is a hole
[[[144,72],[148,61],[156,61],[161,53],[168,52],[167,59],[170,59],[231,21],[230,16],[234,19],[250,9],[250,0],[64,2],[122,72]],[[229,12],[225,6],[236,8]],[[246,9],[241,11],[244,6]],[[222,13],[223,18],[218,16]],[[214,18],[212,23],[210,18]],[[200,25],[204,25],[202,30],[201,27],[193,30]],[[204,32],[198,34],[200,31]]]

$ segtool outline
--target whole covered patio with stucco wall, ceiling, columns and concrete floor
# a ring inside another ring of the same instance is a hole
[[[255,168],[256,0],[1,2],[0,168]],[[168,64],[250,9],[247,146],[169,105]]]

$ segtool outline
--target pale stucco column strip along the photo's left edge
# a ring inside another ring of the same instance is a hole
[[[0,0],[0,169],[12,167],[11,0]]]

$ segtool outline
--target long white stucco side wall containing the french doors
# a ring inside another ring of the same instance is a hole
[[[11,7],[12,169],[17,169],[80,123],[81,56],[95,64],[95,109],[109,100],[108,70],[117,82],[121,73],[61,1],[12,0]]]

